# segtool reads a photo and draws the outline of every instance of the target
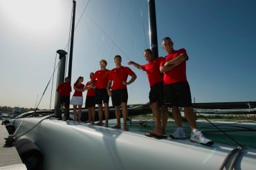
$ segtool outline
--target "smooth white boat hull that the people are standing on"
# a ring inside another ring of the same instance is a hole
[[[40,120],[36,117],[13,120],[16,128],[21,124],[15,136]],[[43,167],[47,170],[219,169],[228,153],[235,149],[223,144],[206,147],[190,140],[156,140],[142,132],[60,120],[44,120],[21,138],[32,140],[41,149]],[[255,163],[256,150],[244,149],[235,169],[255,169]]]

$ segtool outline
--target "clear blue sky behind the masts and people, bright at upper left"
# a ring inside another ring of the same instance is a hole
[[[71,0],[0,0],[0,106],[38,104],[53,74],[56,50],[68,51],[71,7]],[[256,101],[255,7],[254,0],[156,1],[159,56],[166,55],[161,39],[167,36],[175,49],[187,50],[192,100]],[[80,75],[84,84],[89,81],[100,59],[114,68],[114,55],[122,56],[123,66],[129,60],[146,63],[147,0],[77,0],[75,25],[72,84]],[[145,103],[147,75],[129,67],[138,78],[128,86],[128,104]],[[53,108],[56,76],[39,108]]]

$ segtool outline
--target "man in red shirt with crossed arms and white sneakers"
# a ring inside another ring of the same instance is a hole
[[[163,76],[165,100],[172,106],[172,114],[177,125],[177,129],[170,135],[173,139],[185,139],[185,133],[181,124],[181,113],[179,107],[184,108],[184,114],[192,129],[192,142],[198,142],[204,145],[212,145],[214,142],[208,140],[196,128],[196,117],[192,108],[190,85],[186,77],[187,52],[184,48],[174,50],[173,42],[170,37],[162,40],[163,49],[166,50],[165,62],[161,63],[161,73]]]

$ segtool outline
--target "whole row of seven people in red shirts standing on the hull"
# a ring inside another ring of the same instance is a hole
[[[133,65],[138,69],[146,71],[149,79],[149,102],[152,108],[152,113],[155,121],[155,129],[149,133],[145,133],[150,138],[167,138],[165,127],[168,119],[167,106],[165,103],[172,106],[172,115],[176,122],[177,129],[170,134],[172,139],[185,139],[185,132],[183,131],[181,113],[179,107],[184,108],[184,114],[188,120],[191,131],[190,140],[200,144],[212,145],[214,142],[205,138],[205,136],[196,127],[196,117],[192,108],[192,100],[190,93],[190,85],[186,77],[186,61],[188,60],[187,52],[184,48],[174,50],[174,43],[170,37],[165,37],[162,40],[162,47],[167,52],[165,57],[154,58],[152,50],[144,50],[144,57],[147,64],[140,65],[136,62],[130,61],[128,65]],[[83,77],[78,77],[73,88],[75,93],[71,99],[74,108],[74,118],[76,121],[76,109],[78,106],[78,119],[80,122],[81,108],[82,108],[82,92],[88,91],[86,95],[86,106],[88,108],[89,120],[94,123],[95,104],[98,104],[99,122],[96,125],[102,126],[102,103],[104,104],[105,126],[108,127],[109,120],[109,97],[111,97],[112,104],[115,107],[115,114],[117,119],[114,129],[120,129],[120,106],[122,106],[123,130],[127,129],[127,85],[134,82],[136,74],[126,66],[122,66],[122,58],[120,55],[114,57],[116,68],[108,70],[106,68],[107,61],[100,60],[100,70],[95,73],[90,73],[91,81],[86,85],[82,84]],[[127,82],[127,77],[131,79]],[[65,79],[66,84],[68,77]],[[63,83],[62,83],[63,84]],[[60,84],[60,86],[63,86]],[[61,91],[57,88],[57,91]],[[66,90],[66,93],[71,92],[71,87]],[[65,106],[64,116],[66,116],[66,108],[69,106],[69,97],[62,97],[60,93],[60,102]],[[160,109],[161,108],[161,109]],[[161,114],[162,113],[162,114]],[[161,120],[162,117],[162,120]]]

